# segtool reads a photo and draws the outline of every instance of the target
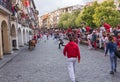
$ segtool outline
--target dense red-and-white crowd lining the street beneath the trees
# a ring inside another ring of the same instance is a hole
[[[59,41],[59,49],[61,46],[65,46],[63,39],[68,39],[69,36],[72,36],[77,44],[88,45],[88,49],[99,48],[104,50],[106,50],[107,43],[109,42],[109,36],[112,36],[114,43],[117,44],[117,49],[120,50],[120,25],[116,28],[104,24],[96,29],[92,29],[89,26],[79,29],[68,28],[67,30],[51,29],[34,34],[33,39],[39,42],[42,38],[46,42],[49,36],[53,37],[53,40]]]

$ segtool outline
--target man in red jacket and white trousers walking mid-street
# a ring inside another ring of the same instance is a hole
[[[75,82],[75,63],[78,60],[80,63],[80,50],[74,42],[73,37],[69,37],[69,42],[64,47],[64,56],[67,56],[68,72],[72,82]]]

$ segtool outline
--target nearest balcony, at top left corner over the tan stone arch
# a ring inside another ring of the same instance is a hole
[[[11,14],[11,2],[10,0],[0,0],[0,11],[3,14]]]

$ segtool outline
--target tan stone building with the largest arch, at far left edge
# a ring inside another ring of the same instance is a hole
[[[10,16],[11,3],[10,0],[0,0],[0,58],[3,53],[11,53],[11,36],[10,36]]]

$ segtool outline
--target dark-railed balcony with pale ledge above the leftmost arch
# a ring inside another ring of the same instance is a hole
[[[0,8],[5,12],[11,12],[11,1],[10,0],[0,0]]]

